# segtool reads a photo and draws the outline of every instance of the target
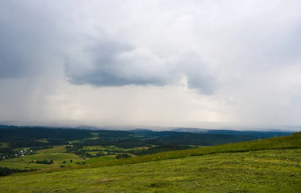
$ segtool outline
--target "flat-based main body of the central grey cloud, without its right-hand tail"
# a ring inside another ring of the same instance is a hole
[[[165,85],[164,69],[147,49],[101,40],[82,51],[84,60],[69,57],[64,66],[69,82],[95,86]],[[161,68],[160,66],[157,66]]]

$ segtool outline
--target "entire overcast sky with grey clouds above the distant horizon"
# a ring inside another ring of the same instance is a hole
[[[0,121],[301,125],[301,2],[0,1]]]

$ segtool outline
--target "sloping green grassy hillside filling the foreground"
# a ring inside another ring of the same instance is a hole
[[[301,192],[301,133],[1,177],[2,192]]]

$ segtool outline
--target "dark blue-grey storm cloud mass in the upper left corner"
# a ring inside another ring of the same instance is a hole
[[[26,78],[45,68],[55,32],[46,10],[32,10],[22,2],[0,3],[0,79]]]

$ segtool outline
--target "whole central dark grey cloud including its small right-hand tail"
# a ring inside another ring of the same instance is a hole
[[[147,49],[115,41],[95,40],[81,52],[85,61],[73,55],[67,57],[64,64],[72,84],[165,86],[180,81],[182,74],[188,79],[188,87],[199,93],[212,94],[216,89],[213,76],[206,74],[205,65],[196,53],[179,54],[176,61],[168,65]]]

